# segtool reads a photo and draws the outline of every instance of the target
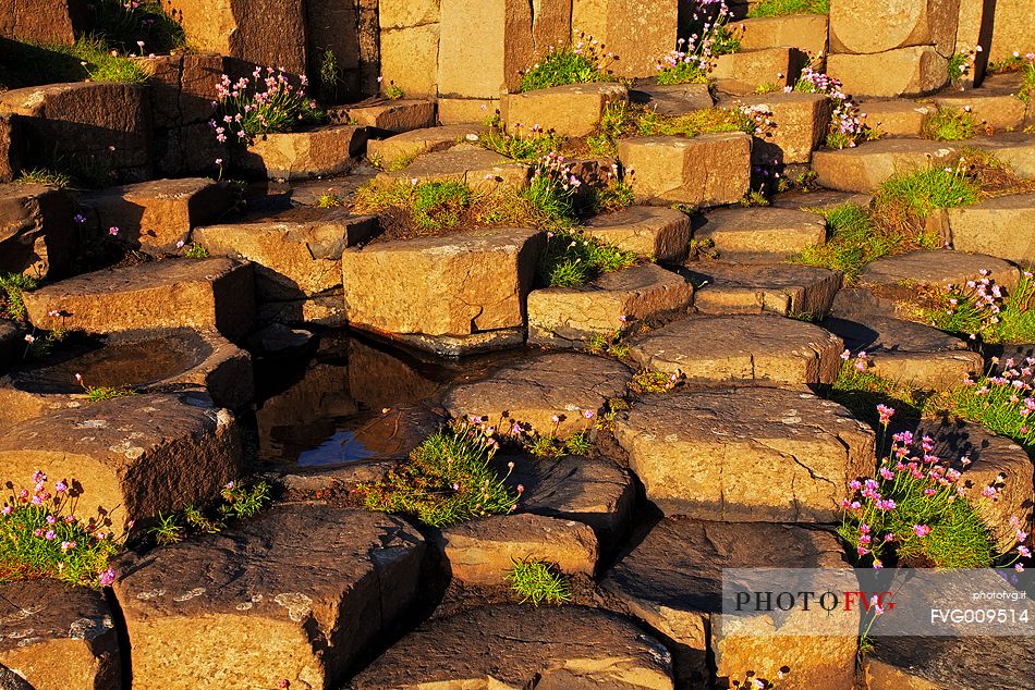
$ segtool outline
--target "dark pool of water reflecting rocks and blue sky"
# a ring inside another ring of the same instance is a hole
[[[314,467],[404,457],[441,421],[435,399],[446,386],[511,357],[427,362],[344,331],[325,333],[307,361],[256,366],[258,458]]]

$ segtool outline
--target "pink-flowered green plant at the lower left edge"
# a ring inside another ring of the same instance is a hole
[[[75,483],[66,479],[48,488],[47,476],[33,472],[32,489],[11,491],[0,510],[0,582],[52,577],[71,584],[109,586],[115,571],[108,563],[123,546],[96,519],[75,510]]]

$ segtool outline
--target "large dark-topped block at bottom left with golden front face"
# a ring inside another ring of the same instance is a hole
[[[399,519],[294,504],[131,556],[133,687],[332,687],[414,601],[424,551]]]

